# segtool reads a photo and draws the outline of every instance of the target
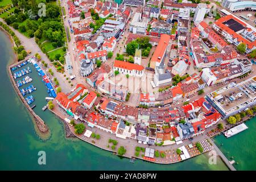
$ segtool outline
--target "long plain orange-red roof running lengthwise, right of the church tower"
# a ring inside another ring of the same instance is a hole
[[[158,46],[155,49],[154,54],[152,55],[151,61],[155,61],[160,63],[162,60],[164,53],[166,52],[167,46],[170,42],[170,35],[162,34],[160,37],[160,41],[158,43]]]

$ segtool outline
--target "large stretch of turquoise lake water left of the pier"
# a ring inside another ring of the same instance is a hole
[[[31,115],[15,93],[7,75],[6,66],[11,64],[14,55],[8,37],[0,31],[0,169],[1,170],[227,170],[218,159],[217,165],[208,163],[208,154],[176,164],[154,164],[119,158],[79,139],[65,139],[64,127],[59,119],[48,110],[46,87],[35,72],[30,73],[36,86],[35,111],[47,123],[51,137],[42,141],[36,135]],[[30,64],[31,65],[31,64]],[[32,65],[30,66],[32,67]],[[46,165],[38,164],[38,152],[46,152]]]

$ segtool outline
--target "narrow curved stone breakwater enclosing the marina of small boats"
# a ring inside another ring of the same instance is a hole
[[[24,61],[30,59],[31,57],[33,56],[30,56],[30,57],[27,57]],[[14,76],[13,76],[13,73],[11,72],[12,68],[13,67],[16,67],[20,64],[22,64],[24,61],[19,61],[18,63],[14,63],[12,65],[10,65],[8,67],[8,72],[9,72],[9,76],[10,76],[10,79],[11,79],[11,82],[16,90],[16,93],[19,95],[19,97],[21,98],[22,102],[24,103],[24,105],[27,107],[27,109],[30,111],[30,113],[34,116],[34,119],[35,119],[35,122],[36,122],[36,126],[38,127],[40,133],[48,133],[49,132],[49,129],[48,129],[48,126],[46,125],[46,123],[44,123],[43,119],[39,117],[39,115],[37,115],[34,110],[32,110],[32,108],[27,104],[27,101],[25,100],[25,98],[22,96],[22,93],[20,93],[19,89],[18,89],[18,86],[16,85],[16,82],[14,80]]]

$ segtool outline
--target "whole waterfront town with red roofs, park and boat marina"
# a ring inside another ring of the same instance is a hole
[[[239,168],[214,137],[249,132],[256,114],[255,1],[5,2],[10,81],[39,137],[53,135],[46,115],[54,115],[66,138],[131,163],[215,151]]]

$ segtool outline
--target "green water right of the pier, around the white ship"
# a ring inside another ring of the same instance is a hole
[[[249,129],[230,138],[219,135],[214,140],[226,158],[238,162],[234,164],[237,170],[256,170],[256,118],[245,124]]]

